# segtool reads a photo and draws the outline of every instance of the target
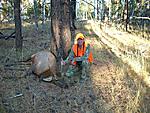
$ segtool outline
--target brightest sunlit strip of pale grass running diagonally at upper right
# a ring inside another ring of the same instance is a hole
[[[145,83],[150,86],[149,71],[146,71],[149,66],[147,65],[147,60],[142,60],[146,57],[150,57],[148,55],[150,51],[150,42],[140,37],[129,35],[126,32],[120,32],[118,34],[118,31],[114,30],[115,28],[106,27],[102,29],[99,27],[99,23],[94,21],[91,21],[91,26],[100,40],[110,47],[117,57],[122,59],[125,63],[128,63],[131,68],[143,78]],[[145,55],[146,53],[147,56]]]

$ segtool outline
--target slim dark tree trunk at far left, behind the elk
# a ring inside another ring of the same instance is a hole
[[[22,51],[22,33],[20,17],[20,0],[14,0],[15,38],[16,50]]]

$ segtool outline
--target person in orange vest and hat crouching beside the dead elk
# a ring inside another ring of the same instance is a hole
[[[84,80],[89,73],[92,62],[93,55],[90,51],[90,44],[85,41],[85,36],[82,33],[77,33],[68,57],[61,61],[62,65],[70,64],[66,76],[71,77],[76,72],[82,71],[80,78]]]

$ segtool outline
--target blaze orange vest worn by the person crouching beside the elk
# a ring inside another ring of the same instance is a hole
[[[75,54],[74,57],[82,57],[82,56],[84,56],[84,53],[86,51],[86,47],[87,46],[86,46],[85,43],[83,44],[82,48],[79,48],[77,44],[74,44],[73,47],[72,47],[72,50],[73,50],[73,52]],[[88,61],[90,63],[93,62],[93,54],[92,54],[92,52],[89,53]],[[76,64],[76,62],[74,62],[74,64]]]

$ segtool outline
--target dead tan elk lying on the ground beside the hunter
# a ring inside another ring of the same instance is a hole
[[[28,69],[25,77],[34,73],[40,79],[39,81],[52,81],[53,78],[56,79],[57,74],[57,62],[56,57],[52,52],[41,51],[33,54],[30,58],[32,64]]]

